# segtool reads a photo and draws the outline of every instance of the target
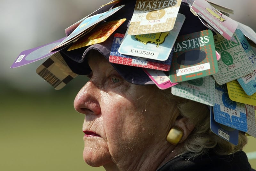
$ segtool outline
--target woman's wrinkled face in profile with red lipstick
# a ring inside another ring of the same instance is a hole
[[[90,55],[88,63],[90,81],[74,101],[76,111],[85,114],[85,162],[96,167],[130,165],[167,143],[171,107],[157,88],[126,82],[98,53]]]

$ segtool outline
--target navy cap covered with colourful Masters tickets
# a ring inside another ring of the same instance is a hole
[[[97,51],[127,82],[208,105],[212,132],[236,145],[238,131],[256,137],[256,33],[232,14],[205,0],[113,0],[11,68],[48,57],[36,73],[61,89],[90,74],[87,57]]]

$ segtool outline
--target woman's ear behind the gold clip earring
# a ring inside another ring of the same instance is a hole
[[[179,143],[184,142],[187,138],[188,135],[193,131],[195,128],[195,125],[189,122],[188,118],[186,117],[181,117],[177,118],[174,122],[174,125],[181,128],[183,130],[183,136],[180,139]]]

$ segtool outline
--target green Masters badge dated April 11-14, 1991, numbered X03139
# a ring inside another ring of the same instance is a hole
[[[218,72],[211,30],[181,35],[173,47],[171,82],[184,82]]]

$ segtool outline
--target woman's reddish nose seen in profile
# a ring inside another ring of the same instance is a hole
[[[78,92],[74,100],[74,108],[83,114],[100,114],[100,89],[91,81],[87,82]]]

